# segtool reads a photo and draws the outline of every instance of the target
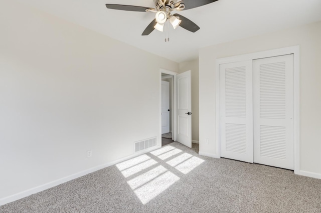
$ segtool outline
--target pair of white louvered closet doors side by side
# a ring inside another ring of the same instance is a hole
[[[293,54],[222,63],[222,157],[294,169]]]

